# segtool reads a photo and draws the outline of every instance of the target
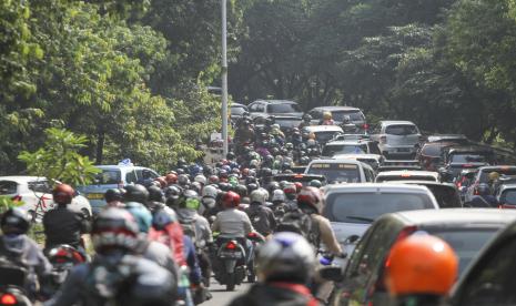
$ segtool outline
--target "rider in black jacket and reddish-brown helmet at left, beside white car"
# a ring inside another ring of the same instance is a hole
[[[61,244],[68,244],[85,256],[81,235],[89,232],[90,223],[82,213],[68,207],[74,194],[75,191],[67,184],[59,184],[53,188],[53,202],[58,206],[43,216],[45,252]]]

